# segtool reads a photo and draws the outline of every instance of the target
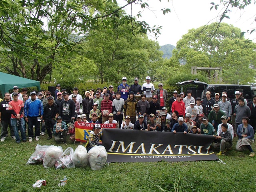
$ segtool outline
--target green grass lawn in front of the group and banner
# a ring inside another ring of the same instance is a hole
[[[90,167],[55,170],[45,169],[42,164],[26,165],[36,144],[58,146],[47,138],[45,135],[40,136],[39,142],[16,144],[9,135],[5,142],[0,142],[1,192],[256,191],[256,157],[250,158],[249,151],[236,152],[237,138],[233,150],[220,157],[226,165],[216,161],[111,163],[99,171]],[[78,144],[68,141],[60,146],[63,150],[67,147],[75,150]],[[252,148],[256,150],[255,144]],[[67,185],[58,187],[65,175]],[[32,184],[39,179],[45,179],[47,185],[33,188]]]

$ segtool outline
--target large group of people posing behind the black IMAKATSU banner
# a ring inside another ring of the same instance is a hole
[[[1,142],[8,136],[8,126],[16,143],[26,142],[27,125],[29,142],[34,138],[39,141],[47,131],[48,140],[54,136],[56,142],[66,144],[67,134],[74,140],[74,122],[82,121],[94,123],[86,144],[89,148],[98,144],[102,137],[100,124],[114,123],[120,129],[212,135],[215,137],[212,148],[220,150],[218,155],[230,149],[233,138],[238,136],[236,150],[248,149],[250,156],[254,156],[251,144],[256,130],[256,95],[247,102],[239,91],[234,92],[233,100],[225,91],[215,93],[214,99],[207,91],[202,100],[194,98],[192,90],[187,90],[187,96],[174,90],[168,100],[162,83],[155,89],[149,76],[142,86],[138,81],[134,78],[134,84],[129,86],[127,78],[123,77],[116,92],[110,85],[97,88],[96,92],[86,91],[85,98],[78,94],[78,88],[69,95],[60,84],[56,85],[54,93],[32,91],[30,96],[26,88],[18,92],[18,87],[14,86],[13,93],[5,93],[0,102]]]

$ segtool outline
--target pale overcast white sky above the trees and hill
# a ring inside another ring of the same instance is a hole
[[[124,0],[117,0],[118,4],[124,5]],[[161,34],[157,40],[153,35],[148,35],[149,39],[156,40],[159,45],[172,44],[176,46],[178,40],[182,38],[182,35],[188,33],[189,29],[199,28],[212,22],[219,20],[218,15],[223,12],[223,6],[220,5],[218,10],[214,8],[210,10],[212,4],[220,3],[219,0],[143,0],[147,2],[149,8],[142,10],[139,5],[132,5],[132,16],[136,16],[139,11],[142,11],[142,18],[137,20],[144,20],[150,26],[162,26]],[[162,14],[162,8],[170,8],[171,12],[168,14]],[[127,14],[130,14],[131,7],[126,9]],[[222,22],[232,24],[235,27],[241,29],[241,32],[252,30],[256,28],[256,5],[249,5],[245,10],[238,10],[236,8],[231,9],[231,13],[228,14],[230,19],[224,18]],[[250,39],[256,43],[256,32],[250,34],[247,32],[244,37]]]

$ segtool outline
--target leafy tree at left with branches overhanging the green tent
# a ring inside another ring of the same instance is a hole
[[[5,70],[17,76],[42,80],[52,71],[56,56],[68,57],[80,54],[82,42],[88,35],[94,36],[101,27],[114,27],[111,17],[119,18],[118,11],[129,4],[148,4],[142,0],[126,0],[118,7],[116,0],[22,0],[0,3],[0,46],[2,54],[10,58],[12,67]],[[112,6],[109,6],[112,5]],[[168,13],[168,8],[162,10]],[[141,14],[138,14],[138,17]],[[132,34],[152,31],[160,34],[160,28],[150,27],[132,16],[122,17],[122,24],[132,24]],[[80,50],[78,50],[80,49]],[[13,62],[17,60],[18,62]],[[25,67],[25,64],[29,70]],[[29,75],[27,73],[30,73]]]

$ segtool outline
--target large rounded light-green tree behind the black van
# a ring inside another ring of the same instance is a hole
[[[240,36],[240,29],[232,25],[221,23],[218,33],[212,38],[208,34],[216,23],[205,28],[191,29],[177,42],[174,56],[186,61],[186,68],[222,67],[223,82],[236,84],[239,80],[243,84],[254,82],[255,72],[249,65],[255,64],[256,45]],[[204,73],[204,72],[203,72]],[[245,75],[246,74],[246,75]],[[210,79],[210,71],[207,74]]]

